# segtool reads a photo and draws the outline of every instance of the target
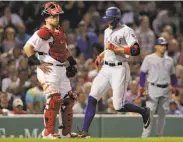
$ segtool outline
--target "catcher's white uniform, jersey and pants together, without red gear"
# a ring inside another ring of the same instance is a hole
[[[37,52],[48,53],[50,46],[49,43],[53,42],[53,37],[51,36],[48,40],[43,40],[37,35],[37,31],[33,36],[27,41],[28,44],[32,45],[34,50]],[[59,61],[55,60],[49,55],[37,55],[40,61],[52,64],[61,64]],[[71,90],[70,81],[66,77],[65,66],[50,66],[51,72],[44,73],[40,68],[37,68],[37,78],[41,83],[44,94],[49,96],[54,93],[61,93],[62,96]]]

